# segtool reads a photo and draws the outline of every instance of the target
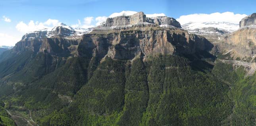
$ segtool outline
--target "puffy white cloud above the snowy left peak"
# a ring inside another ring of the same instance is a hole
[[[58,23],[60,23],[60,22],[56,19],[48,19],[44,23],[38,22],[38,21],[34,22],[33,20],[31,20],[31,21],[29,21],[28,24],[21,21],[16,25],[16,29],[19,32],[27,33],[27,32],[46,29],[46,28],[48,29],[50,27],[53,27],[53,26],[57,25]]]

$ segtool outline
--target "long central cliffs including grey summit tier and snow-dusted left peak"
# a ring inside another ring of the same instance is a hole
[[[123,25],[128,27],[111,28]],[[139,12],[131,16],[108,18],[100,27],[104,29],[94,29],[77,36],[73,28],[58,24],[50,31],[46,29],[26,34],[13,50],[49,53],[57,57],[103,58],[107,55],[113,59],[133,59],[136,55],[191,54],[213,48],[205,38],[179,29],[179,22],[166,16],[149,18]]]

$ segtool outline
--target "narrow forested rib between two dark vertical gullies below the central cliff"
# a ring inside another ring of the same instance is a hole
[[[117,122],[119,126],[138,126],[148,104],[148,82],[143,61],[135,59],[127,71],[125,105]]]

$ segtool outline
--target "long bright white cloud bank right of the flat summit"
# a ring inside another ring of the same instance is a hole
[[[228,22],[228,23],[234,23],[239,24],[239,21],[246,17],[246,14],[234,14],[233,12],[224,12],[224,13],[211,13],[211,14],[205,14],[205,13],[195,13],[190,15],[182,15],[180,16],[177,21],[181,23],[181,25],[184,25],[189,22],[195,22],[195,23],[203,23],[203,22]]]

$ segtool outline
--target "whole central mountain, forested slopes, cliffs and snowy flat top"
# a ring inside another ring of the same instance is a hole
[[[27,33],[0,55],[0,100],[25,125],[255,124],[255,75],[224,61],[233,39],[201,36],[230,32],[184,29],[172,17],[123,11],[90,29]]]

